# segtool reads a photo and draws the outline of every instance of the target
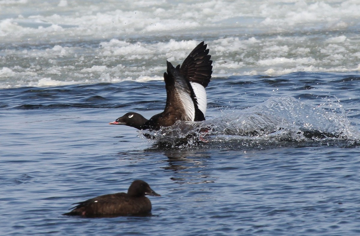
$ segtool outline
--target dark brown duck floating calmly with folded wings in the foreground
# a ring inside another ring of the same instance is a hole
[[[147,182],[135,180],[127,193],[101,195],[82,201],[71,208],[71,212],[63,215],[81,215],[84,217],[112,217],[121,215],[147,214],[151,211],[151,202],[145,197],[160,196],[150,188]]]

